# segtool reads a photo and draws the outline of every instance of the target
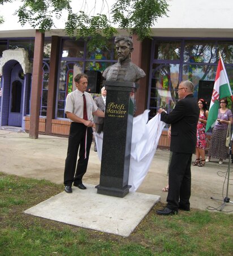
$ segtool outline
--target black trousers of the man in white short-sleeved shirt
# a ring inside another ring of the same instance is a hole
[[[83,123],[71,123],[64,167],[65,186],[72,186],[73,181],[74,184],[80,184],[82,182],[82,178],[87,171],[90,146],[92,144],[92,132],[92,127],[87,127]],[[79,160],[77,161],[78,151]]]

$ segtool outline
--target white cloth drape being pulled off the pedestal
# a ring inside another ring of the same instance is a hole
[[[132,186],[130,191],[136,191],[148,173],[162,129],[165,126],[165,123],[160,121],[159,114],[148,121],[149,111],[150,110],[145,110],[143,114],[133,118],[130,173],[128,180],[128,185]],[[101,160],[103,133],[94,133],[94,136],[96,139],[98,157]]]

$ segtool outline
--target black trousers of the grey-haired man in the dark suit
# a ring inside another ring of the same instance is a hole
[[[192,153],[172,152],[167,195],[167,208],[171,210],[178,210],[179,206],[190,207],[191,162]]]

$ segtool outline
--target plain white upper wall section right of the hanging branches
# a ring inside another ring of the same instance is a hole
[[[154,28],[232,29],[231,0],[170,0],[167,17],[158,18]],[[179,36],[179,35],[177,35]]]

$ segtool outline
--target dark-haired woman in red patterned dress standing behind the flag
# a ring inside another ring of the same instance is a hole
[[[197,123],[197,144],[196,144],[196,157],[197,159],[192,165],[203,167],[205,165],[205,148],[206,148],[206,133],[205,127],[208,118],[208,110],[205,100],[199,99],[198,101],[200,114]]]

